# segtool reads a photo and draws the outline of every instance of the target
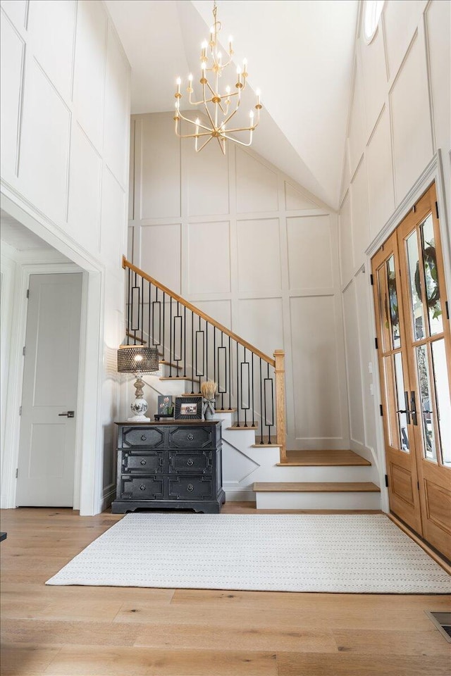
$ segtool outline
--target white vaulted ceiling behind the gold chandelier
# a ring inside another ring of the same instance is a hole
[[[132,67],[132,113],[172,111],[197,73],[211,0],[105,0]],[[264,112],[252,147],[338,206],[359,0],[218,0]],[[218,148],[219,151],[219,148]]]

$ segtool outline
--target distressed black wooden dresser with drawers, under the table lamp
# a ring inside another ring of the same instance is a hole
[[[219,513],[221,420],[167,420],[118,425],[118,476],[113,514],[139,508]]]

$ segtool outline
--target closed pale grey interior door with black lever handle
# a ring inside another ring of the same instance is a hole
[[[17,506],[73,506],[81,292],[82,273],[30,275]]]

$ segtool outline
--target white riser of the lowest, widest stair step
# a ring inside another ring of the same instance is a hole
[[[257,509],[381,509],[381,494],[367,492],[257,492]]]

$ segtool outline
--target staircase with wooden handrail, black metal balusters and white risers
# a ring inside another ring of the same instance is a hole
[[[214,417],[222,421],[228,501],[302,511],[381,508],[376,472],[362,456],[286,450],[283,351],[261,353],[125,258],[123,267],[125,342],[149,342],[161,355],[161,370],[143,377],[149,411],[158,395],[197,395],[201,382],[218,384]]]

